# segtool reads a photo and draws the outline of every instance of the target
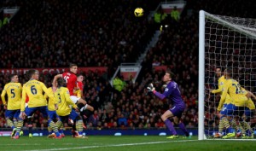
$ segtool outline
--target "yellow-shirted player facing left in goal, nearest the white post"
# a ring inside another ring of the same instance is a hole
[[[222,94],[222,91],[224,89],[223,88],[224,83],[226,82],[226,79],[224,78],[224,75],[221,76],[221,68],[220,67],[216,68],[215,73],[216,73],[216,76],[218,77],[218,90],[212,90],[211,92],[213,94],[216,94],[216,93]],[[231,102],[232,102],[232,100],[230,98],[230,95],[227,95],[225,98],[225,101],[224,101],[224,105],[223,106],[221,104],[218,105],[218,108],[217,108],[218,118],[220,120],[219,120],[219,125],[218,125],[218,132],[216,132],[214,135],[215,138],[222,137],[223,129],[224,128],[229,129],[229,127],[231,126],[229,120],[226,117],[226,115],[228,113],[227,105],[230,104]]]

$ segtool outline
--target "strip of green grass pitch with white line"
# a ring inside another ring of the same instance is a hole
[[[88,139],[66,136],[61,140],[45,136],[21,136],[18,140],[0,137],[0,150],[51,151],[254,151],[256,140],[204,140],[192,138],[166,139],[166,136],[89,136]]]

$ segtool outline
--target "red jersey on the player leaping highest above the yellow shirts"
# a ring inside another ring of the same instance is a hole
[[[77,76],[74,73],[62,73],[62,78],[66,80],[67,89],[69,90],[70,96],[74,96],[73,90],[77,85]]]

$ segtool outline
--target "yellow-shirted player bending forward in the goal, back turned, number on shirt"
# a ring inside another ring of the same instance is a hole
[[[232,103],[227,105],[227,116],[230,121],[233,119],[234,116],[239,116],[239,121],[242,121],[241,117],[244,113],[244,108],[248,102],[247,96],[242,93],[241,85],[232,78],[232,70],[230,68],[225,69],[224,71],[224,78],[226,78],[226,82],[224,83],[222,96],[219,101],[219,107],[223,107],[224,101],[227,95],[230,95]],[[230,128],[228,130],[228,134],[223,136],[223,138],[230,138],[236,136],[234,130]]]

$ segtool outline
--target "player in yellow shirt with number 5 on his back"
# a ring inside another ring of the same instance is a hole
[[[18,126],[21,127],[23,125],[23,120],[19,118],[21,91],[22,91],[22,86],[19,83],[18,75],[11,74],[10,82],[4,85],[1,97],[2,97],[4,108],[7,108],[7,110],[5,111],[5,118],[6,118],[7,124],[13,130],[12,137],[15,136],[16,128]],[[8,96],[8,102],[5,101],[6,94]]]

